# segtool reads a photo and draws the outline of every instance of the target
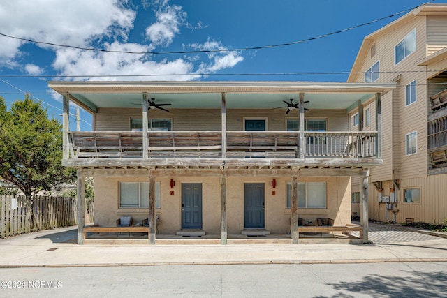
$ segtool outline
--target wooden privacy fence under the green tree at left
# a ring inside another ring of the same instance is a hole
[[[76,198],[36,195],[0,196],[0,237],[66,227],[78,223]],[[85,221],[93,222],[93,200],[87,199]]]

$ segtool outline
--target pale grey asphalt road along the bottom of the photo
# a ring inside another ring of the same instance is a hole
[[[447,297],[447,262],[0,269],[0,297]]]

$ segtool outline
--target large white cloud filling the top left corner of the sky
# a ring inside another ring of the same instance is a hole
[[[66,45],[83,46],[94,36],[126,36],[134,20],[135,12],[118,0],[15,0],[0,6],[1,33]],[[1,37],[0,64],[17,65],[23,43]]]

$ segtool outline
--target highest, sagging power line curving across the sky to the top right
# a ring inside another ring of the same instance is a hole
[[[76,49],[76,50],[85,50],[85,51],[94,51],[94,52],[109,52],[109,53],[120,53],[120,54],[198,54],[198,53],[210,53],[210,52],[240,52],[240,51],[249,51],[249,50],[271,49],[271,48],[274,48],[274,47],[285,47],[285,46],[288,46],[288,45],[296,45],[298,43],[305,43],[307,41],[325,38],[325,37],[332,36],[332,35],[339,34],[339,33],[343,33],[343,32],[346,32],[346,31],[351,31],[351,30],[357,29],[359,27],[364,27],[364,26],[367,26],[369,24],[374,24],[376,22],[380,22],[382,20],[389,19],[390,17],[396,17],[397,15],[402,15],[404,13],[408,13],[411,10],[414,10],[414,9],[420,7],[420,6],[423,6],[425,4],[431,3],[433,1],[434,0],[430,0],[430,1],[427,1],[425,3],[420,4],[418,6],[414,6],[412,8],[408,8],[406,10],[402,10],[399,13],[393,13],[393,15],[388,15],[386,17],[381,17],[379,19],[372,20],[370,22],[365,22],[363,24],[358,24],[356,26],[349,27],[349,28],[346,28],[346,29],[342,29],[342,30],[326,33],[326,34],[323,34],[321,36],[315,36],[315,37],[312,37],[312,38],[305,38],[305,39],[302,39],[302,40],[296,40],[296,41],[292,41],[292,42],[289,42],[289,43],[279,43],[279,44],[276,44],[276,45],[262,45],[262,46],[258,46],[258,47],[240,47],[240,48],[233,48],[233,49],[192,50],[192,51],[132,52],[132,51],[104,50],[104,49],[98,49],[98,48],[94,48],[94,47],[78,47],[78,46],[75,46],[75,45],[61,45],[61,44],[58,44],[58,43],[48,43],[48,42],[45,42],[45,41],[31,40],[31,39],[28,39],[28,38],[20,38],[20,37],[17,37],[17,36],[10,36],[10,35],[5,34],[5,33],[0,33],[0,36],[5,36],[7,38],[13,38],[13,39],[22,40],[22,41],[27,41],[29,43],[35,43],[35,44],[41,44],[41,45],[51,45],[51,46],[54,46],[54,47],[68,47],[68,48],[72,48],[72,49]]]

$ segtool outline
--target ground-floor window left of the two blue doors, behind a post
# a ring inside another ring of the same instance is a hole
[[[155,207],[160,208],[160,182],[156,182]],[[149,208],[149,182],[120,182],[119,208]]]

